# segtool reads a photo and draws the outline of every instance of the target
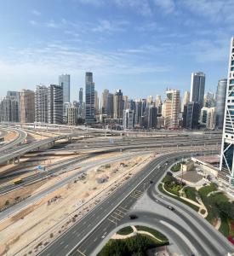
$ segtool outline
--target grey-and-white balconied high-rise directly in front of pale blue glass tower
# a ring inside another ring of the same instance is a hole
[[[63,122],[63,86],[49,85],[48,94],[48,123],[62,124]]]

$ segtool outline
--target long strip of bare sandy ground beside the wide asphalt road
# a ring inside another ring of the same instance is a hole
[[[37,206],[30,207],[28,210],[24,210],[25,212],[19,213],[20,215],[16,217],[16,221],[14,221],[15,218],[10,218],[4,224],[5,229],[1,231],[0,254],[4,251],[6,245],[9,246],[10,255],[16,253],[21,247],[36,239],[45,230],[50,230],[54,224],[60,223],[61,219],[66,218],[70,212],[76,210],[81,202],[88,201],[94,195],[100,194],[100,191],[121,178],[124,173],[138,172],[142,166],[139,168],[134,166],[144,160],[146,160],[146,156],[90,169],[87,176],[77,177],[76,183],[66,184],[64,187],[54,191],[54,193],[44,197],[42,201],[37,203]],[[146,161],[144,164],[146,164]],[[62,179],[74,172],[76,171],[51,178],[48,183],[38,187],[34,193],[52,186],[58,179]]]

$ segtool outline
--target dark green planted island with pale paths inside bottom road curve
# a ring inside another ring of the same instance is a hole
[[[151,248],[160,247],[168,245],[168,238],[164,236],[157,230],[145,227],[145,226],[135,226],[136,232],[134,236],[127,237],[123,239],[111,239],[106,243],[106,246],[102,248],[99,256],[128,256],[128,255],[147,255],[146,251]],[[132,227],[125,227],[117,231],[117,235],[123,234],[123,236],[129,235],[129,231],[134,231]],[[149,233],[139,234],[138,231],[144,231]],[[131,233],[132,233],[131,232]],[[154,236],[154,237],[152,237]]]

